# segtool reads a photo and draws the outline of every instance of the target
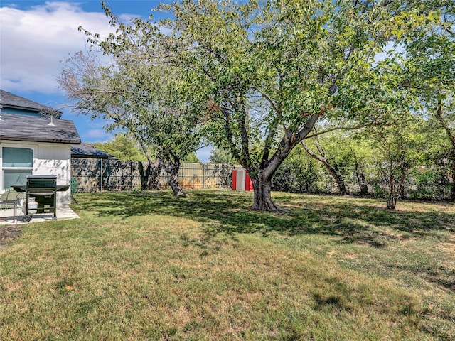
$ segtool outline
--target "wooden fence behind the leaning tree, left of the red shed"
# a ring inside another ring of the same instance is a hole
[[[185,189],[230,188],[232,169],[221,163],[182,163],[179,182]],[[72,158],[71,176],[77,180],[80,192],[141,188],[137,161]],[[164,171],[161,171],[160,183],[161,188],[169,187],[168,174]]]

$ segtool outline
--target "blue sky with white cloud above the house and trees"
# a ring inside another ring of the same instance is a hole
[[[114,13],[128,21],[149,18],[151,9],[169,0],[105,1]],[[154,20],[163,13],[153,13]],[[1,0],[0,5],[0,88],[35,102],[63,111],[63,119],[75,122],[84,142],[104,142],[112,138],[105,132],[105,121],[73,114],[55,78],[60,74],[60,60],[86,50],[82,26],[90,32],[107,36],[109,21],[99,0],[24,1]],[[210,148],[198,151],[207,162]]]

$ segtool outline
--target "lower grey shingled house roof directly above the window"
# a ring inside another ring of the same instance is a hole
[[[73,121],[17,114],[0,114],[0,141],[58,142],[80,144]]]

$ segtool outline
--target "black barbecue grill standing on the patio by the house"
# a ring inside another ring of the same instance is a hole
[[[13,186],[16,192],[26,192],[25,211],[22,221],[29,222],[31,216],[40,213],[53,213],[53,220],[57,220],[57,192],[64,192],[69,185],[57,185],[55,175],[28,175],[26,185]],[[29,200],[34,198],[38,206],[29,210]]]

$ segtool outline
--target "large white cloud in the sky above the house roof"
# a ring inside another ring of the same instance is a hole
[[[27,11],[4,6],[0,17],[0,87],[11,92],[55,93],[60,60],[87,48],[77,28],[102,37],[111,31],[104,13],[84,12],[68,2],[46,2]]]

